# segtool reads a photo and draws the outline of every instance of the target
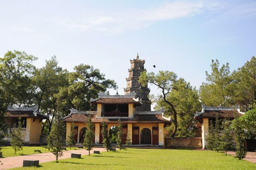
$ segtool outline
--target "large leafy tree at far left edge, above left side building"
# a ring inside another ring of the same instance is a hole
[[[36,59],[24,51],[8,51],[0,58],[1,100],[6,105],[34,105],[35,89],[31,77],[35,69],[32,62]]]

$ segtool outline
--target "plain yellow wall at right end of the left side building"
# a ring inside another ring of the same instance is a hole
[[[37,144],[37,143],[40,143],[42,121],[41,119],[38,119],[38,118],[36,118],[34,122],[33,121],[34,121],[34,118],[27,118],[25,141],[28,139],[28,136],[29,136],[29,143]]]

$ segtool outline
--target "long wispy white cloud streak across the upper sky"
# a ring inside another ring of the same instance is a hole
[[[113,11],[112,14],[80,18],[79,21],[67,23],[69,28],[96,29],[118,34],[126,30],[148,27],[161,20],[173,20],[201,13],[204,3],[172,2],[148,9],[127,9]]]

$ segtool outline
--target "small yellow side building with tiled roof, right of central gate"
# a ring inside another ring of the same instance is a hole
[[[207,107],[203,106],[202,111],[195,114],[195,119],[198,119],[201,124],[201,137],[202,137],[202,149],[206,146],[206,136],[209,134],[209,123],[215,122],[216,117],[219,119],[233,120],[236,115],[242,116],[244,112],[241,112],[239,107]]]

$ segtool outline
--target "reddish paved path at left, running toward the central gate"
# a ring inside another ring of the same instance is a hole
[[[93,150],[99,150],[100,152],[106,151],[105,148],[93,148]],[[91,150],[90,153],[93,153],[93,150]],[[67,150],[67,151],[63,151],[63,156],[61,156],[59,159],[70,158],[71,153],[88,155],[88,151],[85,149]],[[39,160],[39,164],[40,164],[43,162],[55,161],[55,156],[52,153],[39,153],[34,155],[1,158],[0,161],[1,163],[3,163],[3,165],[0,165],[0,170],[7,170],[15,167],[22,167],[23,160]]]

